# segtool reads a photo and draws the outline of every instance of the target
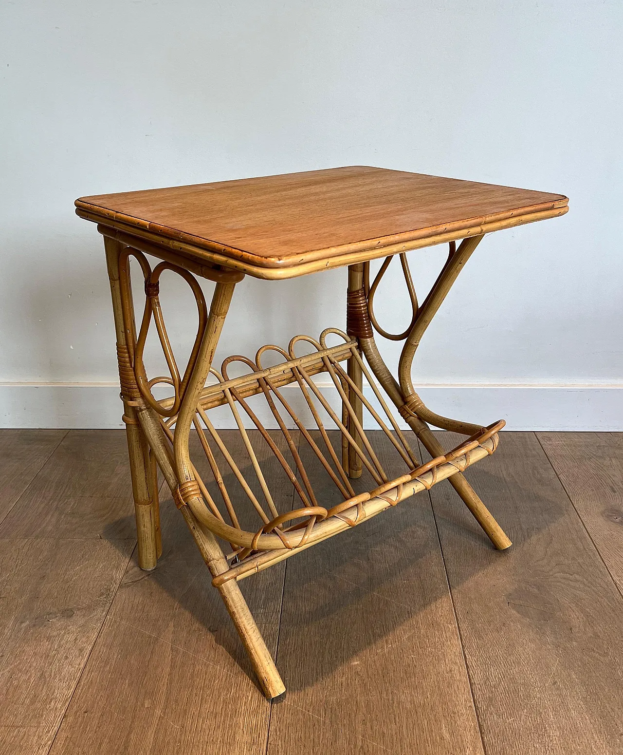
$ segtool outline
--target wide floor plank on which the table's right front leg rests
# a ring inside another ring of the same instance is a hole
[[[514,543],[432,488],[487,755],[621,753],[623,599],[536,436],[502,433],[466,476]]]

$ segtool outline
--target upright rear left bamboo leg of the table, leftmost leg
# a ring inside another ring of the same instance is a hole
[[[121,297],[125,295],[124,291],[121,290],[119,279],[121,244],[105,236],[104,248],[106,249],[106,264],[112,295],[112,312],[115,316],[117,344],[127,348],[127,338],[133,337],[134,334],[134,323],[124,323],[121,307]],[[124,402],[127,451],[130,457],[134,513],[137,520],[138,561],[141,569],[150,571],[155,569],[158,550],[161,549],[158,543],[160,532],[158,501],[156,498],[154,502],[151,495],[153,471],[147,455],[147,441],[138,424],[136,402],[131,401],[131,397],[126,395],[123,395],[122,399]]]

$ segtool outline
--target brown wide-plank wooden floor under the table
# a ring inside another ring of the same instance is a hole
[[[443,482],[241,583],[271,705],[168,495],[138,569],[124,433],[0,431],[0,753],[623,753],[623,433],[468,479],[508,552]]]

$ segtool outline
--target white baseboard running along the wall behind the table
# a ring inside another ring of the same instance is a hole
[[[333,389],[326,383],[320,386],[338,408]],[[447,384],[417,390],[438,414],[482,424],[504,418],[508,430],[623,431],[623,384]],[[315,427],[296,388],[284,391],[307,427]],[[277,427],[263,399],[253,409],[265,427]],[[216,427],[235,427],[223,408],[216,410],[213,422]],[[366,426],[374,427],[369,415]],[[123,427],[118,384],[0,384],[0,427]]]

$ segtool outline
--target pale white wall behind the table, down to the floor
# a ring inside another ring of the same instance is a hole
[[[0,5],[2,424],[120,421],[103,245],[76,197],[364,164],[570,197],[483,240],[415,379],[466,419],[623,430],[621,2]],[[444,251],[411,254],[421,296]],[[345,270],[245,279],[219,356],[342,325],[344,288]]]

